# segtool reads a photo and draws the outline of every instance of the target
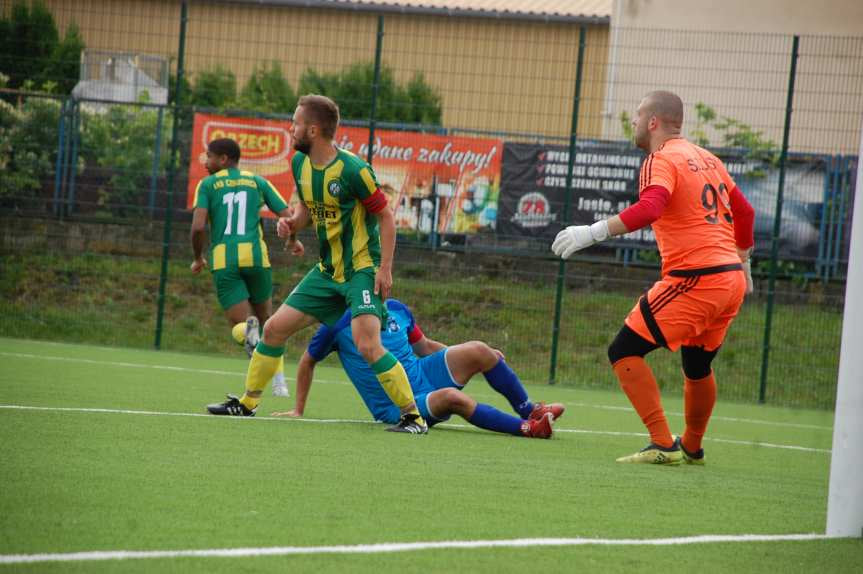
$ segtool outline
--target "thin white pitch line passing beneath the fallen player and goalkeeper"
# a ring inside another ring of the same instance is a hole
[[[342,424],[377,424],[375,421],[370,420],[360,420],[360,419],[309,419],[309,418],[293,418],[293,417],[213,417],[210,414],[204,413],[175,413],[175,412],[161,412],[161,411],[137,411],[137,410],[129,410],[129,409],[102,409],[102,408],[85,408],[85,407],[37,407],[30,405],[0,405],[0,410],[22,410],[22,411],[52,411],[52,412],[67,412],[67,413],[99,413],[99,414],[123,414],[123,415],[147,415],[147,416],[170,416],[170,417],[204,417],[204,418],[218,418],[221,420],[238,420],[238,421],[296,421],[296,422],[306,422],[306,423],[342,423]],[[456,423],[443,423],[438,425],[441,427],[451,427],[451,428],[465,428],[465,429],[476,429],[473,425],[465,425],[465,424],[456,424]],[[578,434],[596,434],[596,435],[605,435],[605,436],[635,436],[635,437],[646,437],[648,436],[646,433],[637,433],[637,432],[620,432],[620,431],[597,431],[597,430],[587,430],[587,429],[566,429],[566,428],[556,428],[554,432],[557,433],[578,433]],[[829,449],[823,448],[812,448],[806,446],[797,446],[797,445],[785,445],[785,444],[773,444],[768,442],[754,442],[754,441],[745,441],[745,440],[732,440],[732,439],[722,439],[722,438],[711,438],[704,437],[705,441],[710,442],[722,442],[728,444],[739,444],[745,446],[758,446],[764,448],[778,448],[784,450],[797,450],[802,452],[820,452],[825,454],[830,454]]]

